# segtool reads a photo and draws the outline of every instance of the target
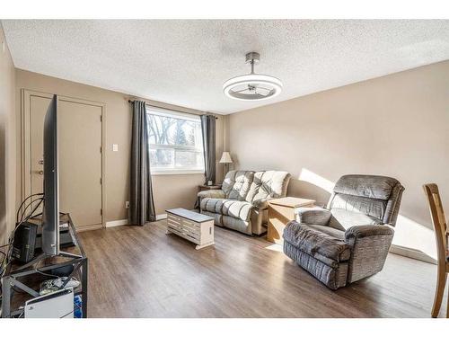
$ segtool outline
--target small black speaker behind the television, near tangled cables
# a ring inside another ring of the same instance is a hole
[[[14,233],[13,258],[15,261],[27,263],[34,257],[38,225],[24,222]]]

